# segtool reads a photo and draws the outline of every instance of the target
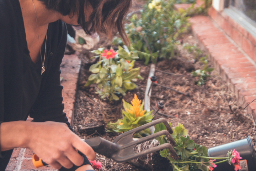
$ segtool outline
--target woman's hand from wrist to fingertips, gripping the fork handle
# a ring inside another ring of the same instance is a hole
[[[58,122],[37,122],[32,131],[28,148],[32,149],[44,162],[56,169],[64,166],[71,168],[73,164],[82,165],[84,158],[75,150],[79,150],[90,160],[95,160],[94,150],[66,124]]]

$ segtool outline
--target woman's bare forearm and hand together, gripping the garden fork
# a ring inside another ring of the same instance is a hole
[[[60,169],[71,168],[73,164],[82,165],[84,158],[79,150],[90,160],[95,160],[94,150],[66,124],[59,122],[4,122],[0,128],[1,150],[16,147],[30,148],[45,163]]]

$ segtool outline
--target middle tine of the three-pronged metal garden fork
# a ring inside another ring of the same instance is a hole
[[[162,131],[153,133],[153,134],[151,134],[151,135],[149,135],[149,136],[140,138],[140,139],[138,139],[138,140],[136,140],[136,141],[133,141],[133,142],[129,142],[129,143],[127,143],[127,144],[124,144],[124,145],[121,146],[121,149],[125,149],[125,148],[130,147],[130,146],[133,146],[133,145],[141,144],[141,143],[143,143],[143,142],[149,141],[150,139],[159,137],[159,136],[161,136],[161,135],[166,135],[166,137],[170,140],[170,143],[172,144],[172,146],[176,146],[176,143],[175,143],[174,139],[172,138],[171,134],[170,134],[167,130],[162,130]]]

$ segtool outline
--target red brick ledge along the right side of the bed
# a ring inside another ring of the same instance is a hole
[[[210,61],[245,107],[256,98],[255,62],[208,16],[195,16],[190,22],[194,36],[209,52]],[[256,117],[256,102],[246,109]]]

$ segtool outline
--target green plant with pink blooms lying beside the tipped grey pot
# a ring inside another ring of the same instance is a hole
[[[172,127],[171,123],[169,124]],[[166,130],[163,123],[155,126],[155,132],[159,132],[161,130]],[[228,162],[230,165],[232,164],[236,171],[241,169],[239,165],[241,157],[235,149],[233,152],[228,152],[228,157],[209,158],[208,149],[205,146],[194,143],[194,141],[188,136],[188,132],[182,124],[179,123],[173,131],[174,132],[171,136],[176,142],[174,149],[178,154],[179,159],[177,161],[173,160],[169,149],[161,150],[160,155],[170,160],[174,171],[212,171],[213,167],[217,167],[216,164],[223,162]],[[164,135],[156,139],[160,144],[168,142]],[[221,159],[222,161],[214,163],[216,159]]]

